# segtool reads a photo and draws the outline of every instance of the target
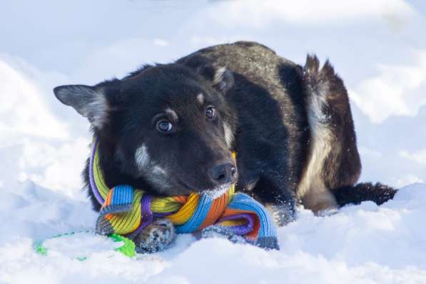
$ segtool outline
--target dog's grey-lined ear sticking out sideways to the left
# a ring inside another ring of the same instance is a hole
[[[102,128],[108,119],[111,106],[107,99],[108,83],[96,86],[66,85],[54,88],[56,98],[67,106],[72,106],[90,123]]]

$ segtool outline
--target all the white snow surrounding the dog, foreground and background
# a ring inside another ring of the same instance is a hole
[[[0,1],[0,284],[426,283],[425,12],[422,0]],[[395,200],[324,218],[301,209],[279,252],[182,235],[136,260],[101,240],[83,262],[34,253],[96,218],[80,191],[88,123],[51,89],[235,40],[299,64],[330,58],[350,92],[361,180],[403,187]]]

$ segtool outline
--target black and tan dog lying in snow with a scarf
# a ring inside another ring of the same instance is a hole
[[[348,92],[330,62],[320,66],[315,55],[300,66],[262,44],[238,41],[54,93],[90,121],[111,187],[177,196],[236,183],[280,225],[295,218],[298,203],[322,214],[348,203],[380,205],[396,192],[356,184],[361,163]],[[88,166],[83,177],[90,189]],[[158,220],[137,243],[157,251],[172,232],[171,223]]]

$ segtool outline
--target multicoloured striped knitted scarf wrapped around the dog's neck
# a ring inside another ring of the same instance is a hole
[[[93,142],[89,164],[93,195],[102,205],[96,233],[136,236],[153,218],[168,218],[176,233],[194,233],[211,225],[225,227],[249,243],[279,249],[276,230],[268,211],[235,185],[218,198],[206,193],[189,196],[156,197],[128,185],[108,188],[99,161],[98,141]]]

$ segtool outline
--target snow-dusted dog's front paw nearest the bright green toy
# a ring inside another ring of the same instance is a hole
[[[157,253],[165,250],[176,238],[175,228],[171,220],[157,219],[144,228],[133,239],[138,253]]]

